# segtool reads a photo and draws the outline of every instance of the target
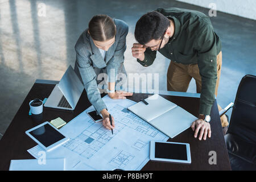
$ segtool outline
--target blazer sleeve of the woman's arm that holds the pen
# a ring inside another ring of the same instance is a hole
[[[107,109],[107,107],[102,100],[100,90],[97,87],[96,73],[90,64],[90,61],[85,56],[80,55],[77,51],[76,59],[82,81],[84,82],[87,97],[97,113],[100,114],[100,111],[102,109]]]

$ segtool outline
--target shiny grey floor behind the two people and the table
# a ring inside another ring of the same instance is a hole
[[[40,3],[46,5],[46,16],[42,16]],[[155,63],[144,68],[131,55],[135,23],[157,7],[182,7],[208,14],[208,9],[170,0],[0,0],[0,139],[37,78],[60,80],[68,65],[74,66],[76,40],[95,14],[127,22],[127,73],[159,73],[159,89],[166,90],[170,60],[158,54]],[[256,75],[256,21],[220,12],[211,20],[222,41],[217,101],[226,106],[236,97],[241,78]],[[196,92],[195,81],[188,92]]]

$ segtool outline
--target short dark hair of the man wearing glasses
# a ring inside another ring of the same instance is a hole
[[[135,39],[142,45],[153,39],[159,40],[168,26],[170,26],[170,21],[166,16],[157,11],[151,11],[141,16],[136,23]]]

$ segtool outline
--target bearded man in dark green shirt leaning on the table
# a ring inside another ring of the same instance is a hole
[[[141,65],[153,64],[156,51],[171,60],[167,90],[187,92],[189,82],[195,79],[201,97],[199,116],[191,128],[199,140],[210,137],[210,110],[217,96],[222,52],[220,38],[209,17],[199,11],[159,8],[138,20],[134,35],[138,43],[131,49]],[[225,126],[228,122],[225,115],[221,121]]]

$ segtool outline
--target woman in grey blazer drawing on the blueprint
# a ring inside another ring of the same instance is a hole
[[[126,76],[123,53],[127,33],[128,26],[122,20],[112,19],[108,15],[96,15],[75,46],[75,72],[84,84],[90,103],[98,114],[102,114],[102,124],[109,130],[114,129],[114,118],[112,117],[110,125],[109,113],[99,87],[105,82],[112,99],[125,99],[133,94],[115,90],[118,81],[122,80],[118,80],[117,76]]]

